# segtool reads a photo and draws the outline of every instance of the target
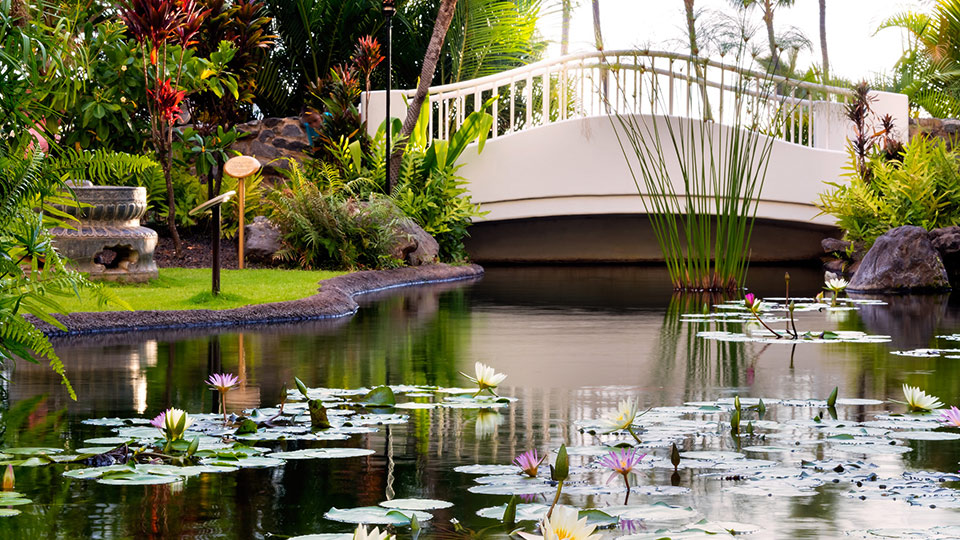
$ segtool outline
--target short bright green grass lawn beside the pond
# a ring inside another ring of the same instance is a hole
[[[230,309],[250,304],[281,302],[305,298],[317,291],[321,279],[345,272],[303,270],[223,270],[220,295],[210,294],[209,268],[161,268],[160,277],[149,283],[106,286],[136,310],[158,309]],[[120,311],[113,304],[97,306],[89,297],[64,298],[60,304],[67,312]]]

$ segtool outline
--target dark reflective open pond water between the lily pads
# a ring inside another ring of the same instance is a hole
[[[794,295],[813,295],[817,269],[791,268]],[[751,287],[780,296],[782,268],[754,268]],[[643,408],[723,397],[901,399],[904,382],[947,404],[960,403],[960,360],[916,358],[891,351],[960,347],[935,336],[960,332],[960,305],[947,296],[890,298],[859,312],[803,313],[802,327],[862,330],[892,336],[883,344],[717,344],[696,338],[698,325],[679,313],[698,311],[704,298],[674,298],[659,269],[643,267],[492,268],[473,283],[395,290],[363,298],[356,316],[297,326],[209,334],[145,333],[63,339],[57,350],[79,401],[71,402],[47,369],[17,366],[4,383],[3,446],[76,449],[107,428],[96,417],[153,417],[169,406],[215,412],[211,372],[239,373],[244,387],[229,395],[231,410],[273,406],[297,376],[310,386],[380,384],[469,385],[475,361],[504,372],[503,395],[518,398],[493,422],[476,410],[403,411],[404,425],[356,435],[333,446],[376,454],[341,460],[290,461],[273,469],[204,474],[159,486],[107,486],[62,476],[63,466],[17,469],[17,491],[35,504],[0,518],[3,538],[263,538],[349,532],[325,520],[333,506],[376,505],[387,498],[425,497],[455,503],[434,511],[427,535],[451,518],[480,529],[493,521],[476,511],[507,496],[467,491],[474,477],[459,465],[509,464],[527,449],[541,452],[592,444],[574,422],[599,418],[625,397]],[[211,350],[219,348],[219,359]],[[896,404],[846,407],[841,418],[872,419]],[[777,408],[784,422],[815,411]],[[693,437],[685,450],[733,449],[729,437]],[[771,444],[771,443],[758,443]],[[956,472],[960,441],[910,441],[902,455],[873,456],[888,475],[907,470]],[[281,443],[283,447],[283,443]],[[294,443],[287,449],[299,448]],[[814,454],[818,450],[813,450]],[[668,449],[652,453],[668,455]],[[814,457],[817,457],[814,455]],[[787,458],[790,461],[792,458]],[[799,466],[799,458],[793,460]],[[711,520],[763,527],[748,538],[833,538],[871,527],[960,525],[960,510],[911,506],[846,495],[826,485],[814,496],[751,497],[723,491],[732,481],[681,471],[682,496],[636,496],[691,506]],[[645,471],[641,485],[670,485],[670,471]],[[621,496],[569,496],[581,507],[620,504]],[[528,528],[529,530],[529,528]],[[610,533],[611,536],[621,534]],[[403,537],[409,538],[404,535]]]

